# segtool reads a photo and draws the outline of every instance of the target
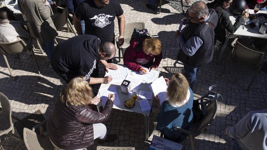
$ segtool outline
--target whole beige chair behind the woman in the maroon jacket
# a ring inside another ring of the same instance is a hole
[[[124,36],[123,45],[119,46],[119,37],[117,37],[115,40],[117,44],[117,48],[119,50],[119,62],[120,62],[120,51],[122,53],[122,58],[123,58],[126,48],[130,45],[130,40],[131,40],[133,31],[134,31],[134,28],[145,29],[145,23],[144,22],[131,22],[131,23],[125,24],[124,35],[123,35]],[[152,37],[149,32],[148,32],[148,35]]]

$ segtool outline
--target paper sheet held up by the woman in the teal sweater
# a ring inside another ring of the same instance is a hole
[[[168,86],[163,76],[161,76],[151,84],[154,95],[158,95],[158,97],[160,98],[160,103],[167,99],[167,87]]]

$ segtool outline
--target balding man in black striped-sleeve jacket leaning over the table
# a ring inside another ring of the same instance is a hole
[[[94,35],[78,35],[56,45],[52,55],[52,68],[67,83],[75,76],[82,75],[89,84],[107,84],[112,77],[98,78],[92,72],[97,60],[108,60],[115,55],[113,43],[100,44],[99,38]]]

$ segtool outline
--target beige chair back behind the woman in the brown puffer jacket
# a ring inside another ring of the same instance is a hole
[[[28,150],[54,150],[54,146],[49,140],[48,135],[37,135],[34,131],[23,129],[24,143]]]

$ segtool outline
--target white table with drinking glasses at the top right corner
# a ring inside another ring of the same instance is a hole
[[[229,12],[228,9],[227,9],[227,12]],[[261,11],[261,10],[260,10],[260,11],[257,12],[256,14],[259,14],[259,13],[264,13],[264,14],[266,14],[267,11]],[[236,19],[238,16],[233,16],[233,14],[232,14],[231,12],[229,12],[229,14],[230,14],[230,20],[231,20],[232,24],[234,24],[234,23],[235,23],[235,19]],[[266,21],[266,18],[265,18],[265,21]],[[254,27],[254,28],[250,28],[249,25],[244,25],[244,28],[243,28],[243,25],[241,25],[241,26],[235,31],[235,33],[233,33],[233,34],[227,34],[226,39],[225,39],[225,42],[224,42],[224,44],[223,44],[223,46],[222,46],[222,48],[221,48],[220,55],[219,55],[219,57],[218,57],[217,64],[219,64],[219,62],[220,62],[220,60],[221,60],[221,57],[222,57],[222,55],[223,55],[223,53],[224,53],[224,51],[225,51],[226,45],[227,45],[227,43],[228,43],[228,40],[229,40],[229,38],[230,38],[231,36],[239,35],[239,36],[248,36],[248,37],[254,37],[254,38],[267,38],[267,34],[266,34],[266,33],[265,33],[265,34],[261,34],[261,33],[259,32],[259,30],[260,30],[259,26],[258,26],[258,27]]]

